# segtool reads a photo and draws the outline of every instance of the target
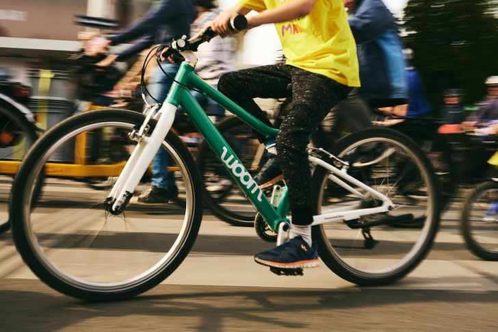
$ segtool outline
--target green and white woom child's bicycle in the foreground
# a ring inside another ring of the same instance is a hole
[[[244,20],[233,20],[237,30],[245,28]],[[213,36],[207,29],[198,38],[172,42],[170,52],[185,61],[156,115],[158,105],[150,105],[144,114],[85,112],[52,127],[32,146],[14,181],[10,216],[19,253],[44,283],[77,298],[118,300],[150,290],[185,259],[199,231],[203,204],[194,159],[170,131],[179,105],[254,205],[256,223],[263,229],[259,235],[276,238],[279,244],[287,240],[287,188],[274,188],[268,199],[189,92],[200,90],[266,136],[275,138],[278,133],[194,74],[194,51]],[[134,148],[114,188],[83,190],[61,179],[46,179],[34,202],[38,175],[49,157],[95,129],[127,131]],[[174,162],[183,205],[155,207],[135,201],[140,178],[159,148]],[[382,155],[358,162],[359,156],[379,149]],[[330,152],[309,149],[309,161],[315,168],[313,237],[328,268],[358,285],[382,285],[404,277],[427,255],[438,228],[436,180],[412,140],[389,129],[365,129],[346,136]],[[423,227],[389,227],[412,218],[423,218]],[[290,269],[276,272],[302,274]]]

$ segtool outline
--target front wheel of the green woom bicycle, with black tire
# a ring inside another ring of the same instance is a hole
[[[166,279],[192,248],[202,219],[200,176],[185,144],[171,131],[162,148],[185,181],[184,209],[137,205],[132,199],[124,213],[112,216],[103,204],[108,192],[49,177],[31,206],[34,179],[57,147],[64,149],[86,130],[132,131],[143,120],[143,114],[125,110],[72,116],[47,131],[18,169],[10,204],[12,235],[25,263],[51,288],[90,301],[129,298]],[[149,125],[153,129],[156,121]]]

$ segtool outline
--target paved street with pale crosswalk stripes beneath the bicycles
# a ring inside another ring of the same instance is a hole
[[[235,199],[236,200],[236,199]],[[239,201],[237,204],[241,203]],[[5,205],[3,209],[5,209]],[[278,277],[252,255],[272,244],[205,211],[196,244],[159,286],[129,301],[86,303],[51,290],[0,235],[3,331],[496,331],[498,263],[462,243],[460,203],[443,214],[423,263],[389,286],[360,288],[324,264]]]

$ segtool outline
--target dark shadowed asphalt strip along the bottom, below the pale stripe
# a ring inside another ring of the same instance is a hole
[[[88,303],[40,281],[2,279],[0,298],[3,331],[493,331],[498,292],[159,285]]]

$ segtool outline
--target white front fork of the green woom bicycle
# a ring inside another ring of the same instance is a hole
[[[152,134],[150,136],[142,135],[138,137],[137,146],[135,146],[127,164],[118,177],[118,181],[116,181],[107,198],[107,202],[109,203],[114,201],[112,211],[120,211],[123,204],[127,203],[131,198],[140,179],[142,179],[142,176],[154,159],[157,150],[161,147],[163,139],[168,134],[168,131],[170,131],[176,109],[175,105],[163,103],[159,112],[154,116],[155,118],[159,118],[159,120]]]

